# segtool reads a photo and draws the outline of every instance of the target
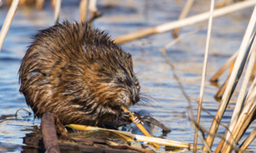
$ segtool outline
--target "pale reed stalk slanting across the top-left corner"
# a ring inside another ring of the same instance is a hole
[[[13,2],[11,3],[11,7],[6,15],[5,22],[3,22],[3,26],[0,32],[0,52],[3,47],[3,42],[5,42],[5,38],[9,31],[11,22],[13,21],[14,15],[17,11],[18,5],[19,5],[19,0],[13,0]]]

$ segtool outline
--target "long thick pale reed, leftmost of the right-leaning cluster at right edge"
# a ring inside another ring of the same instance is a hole
[[[234,89],[237,86],[239,77],[241,76],[241,73],[242,73],[242,71],[239,71],[239,70],[241,70],[242,67],[244,66],[244,65],[242,65],[242,63],[245,61],[244,59],[245,58],[247,59],[246,47],[250,40],[250,36],[253,32],[255,22],[256,22],[256,6],[254,7],[253,14],[251,15],[249,25],[247,26],[247,29],[245,32],[245,36],[243,37],[243,41],[241,43],[241,47],[239,49],[237,59],[235,60],[235,66],[230,75],[229,82],[227,83],[227,88],[224,92],[221,104],[219,106],[217,114],[215,115],[216,120],[213,120],[213,123],[211,124],[210,130],[209,130],[210,134],[216,134],[218,127],[219,127],[218,122],[221,121],[222,116],[226,110],[227,104],[229,103],[229,100],[231,98],[231,95],[233,94]],[[216,121],[218,121],[218,122],[216,122]],[[206,142],[207,142],[207,144],[209,144],[210,147],[213,145],[214,138],[215,138],[215,136],[209,136],[209,135],[207,136]],[[203,147],[203,151],[207,151],[205,147]]]

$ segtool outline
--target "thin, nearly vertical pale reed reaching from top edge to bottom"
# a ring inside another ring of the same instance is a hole
[[[207,38],[206,38],[206,47],[205,47],[205,58],[203,60],[201,88],[200,88],[199,103],[198,103],[198,110],[197,110],[197,123],[198,124],[200,123],[202,102],[203,102],[203,91],[205,89],[205,77],[206,77],[206,70],[207,70],[207,61],[208,61],[208,54],[209,54],[210,38],[211,38],[211,27],[213,26],[213,11],[214,11],[214,0],[211,0],[209,23],[208,23]],[[193,149],[194,153],[197,152],[197,148],[195,147],[195,146],[197,146],[197,136],[198,136],[198,130],[197,130],[197,128],[195,128],[194,149]]]

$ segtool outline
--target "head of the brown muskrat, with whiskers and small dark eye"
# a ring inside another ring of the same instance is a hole
[[[104,54],[104,55],[102,55]],[[133,71],[131,55],[115,48],[92,58],[90,79],[94,102],[102,107],[102,113],[118,115],[124,106],[129,108],[139,102],[139,82]],[[95,100],[97,99],[97,100]]]

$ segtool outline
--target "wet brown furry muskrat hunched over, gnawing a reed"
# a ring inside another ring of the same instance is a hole
[[[51,112],[63,124],[127,118],[121,107],[140,100],[131,54],[83,23],[39,31],[22,59],[19,82],[36,117]]]

